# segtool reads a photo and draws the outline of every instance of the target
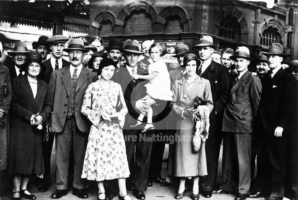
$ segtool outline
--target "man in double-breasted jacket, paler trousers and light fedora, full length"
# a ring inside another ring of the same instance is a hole
[[[251,182],[252,133],[254,132],[262,85],[259,78],[249,73],[247,67],[253,59],[249,49],[237,47],[234,56],[237,74],[231,79],[231,90],[223,118],[223,176],[220,189],[234,190],[238,185],[235,200],[246,199]],[[239,170],[238,170],[239,169]]]

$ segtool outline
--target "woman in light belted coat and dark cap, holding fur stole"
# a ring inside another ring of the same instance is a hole
[[[195,133],[195,121],[193,115],[185,115],[186,109],[194,107],[194,100],[200,97],[206,105],[206,111],[210,114],[213,109],[211,87],[208,80],[196,74],[196,67],[200,64],[198,57],[193,53],[184,56],[185,75],[173,84],[173,110],[178,114],[177,135],[181,140],[176,141],[174,176],[180,177],[178,194],[175,199],[185,196],[185,179],[193,177],[193,195],[191,199],[199,199],[198,180],[199,176],[207,175],[205,155],[205,143],[201,142],[200,150],[194,152],[192,136]],[[192,110],[198,113],[198,109]],[[201,113],[200,113],[201,114]],[[185,138],[185,139],[182,139]]]

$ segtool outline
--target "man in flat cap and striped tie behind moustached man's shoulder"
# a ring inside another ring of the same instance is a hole
[[[54,35],[53,37],[46,40],[52,51],[52,56],[50,59],[46,60],[44,65],[46,66],[46,71],[41,73],[40,78],[49,84],[51,74],[53,71],[66,67],[69,62],[62,58],[63,49],[65,48],[65,43],[69,40],[68,37],[63,35]]]

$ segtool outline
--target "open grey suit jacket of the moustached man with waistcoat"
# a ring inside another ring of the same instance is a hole
[[[51,128],[53,132],[61,132],[65,124],[69,102],[68,97],[71,92],[69,88],[70,78],[70,64],[53,71],[51,75],[49,89],[53,103],[53,113],[51,116]],[[87,87],[97,80],[98,76],[85,67],[82,68],[77,78],[77,86],[75,89],[75,119],[77,127],[81,132],[89,132],[91,126],[90,120],[81,114],[84,94]]]

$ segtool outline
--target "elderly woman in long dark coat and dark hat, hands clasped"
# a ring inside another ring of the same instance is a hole
[[[36,199],[27,190],[30,174],[44,173],[42,139],[46,117],[51,111],[51,100],[46,82],[37,78],[41,70],[41,54],[28,54],[26,73],[12,80],[10,161],[9,172],[13,174],[13,197]]]

